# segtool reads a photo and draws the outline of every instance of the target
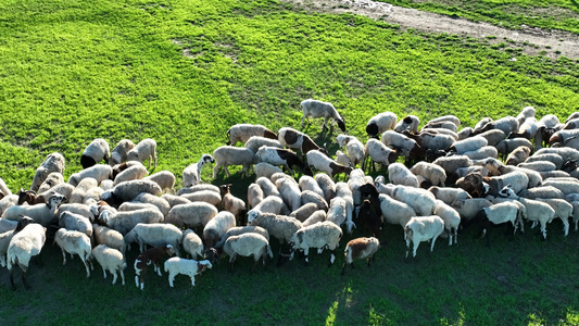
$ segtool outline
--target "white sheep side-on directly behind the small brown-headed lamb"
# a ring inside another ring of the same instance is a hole
[[[166,223],[137,223],[128,234],[125,235],[125,243],[130,250],[130,243],[137,242],[140,252],[151,247],[171,244],[175,248],[175,253],[179,255],[179,247],[182,240],[182,231],[172,224]]]

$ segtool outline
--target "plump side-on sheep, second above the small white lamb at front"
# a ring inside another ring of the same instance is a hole
[[[174,224],[179,228],[192,228],[199,225],[205,227],[215,215],[217,215],[217,209],[214,205],[206,202],[191,202],[178,204],[171,209],[165,223]]]

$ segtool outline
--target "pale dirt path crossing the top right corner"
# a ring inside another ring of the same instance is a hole
[[[281,0],[297,4],[306,10],[329,13],[354,13],[366,15],[373,20],[383,20],[390,24],[398,24],[401,28],[414,28],[427,33],[449,33],[466,35],[476,38],[495,36],[488,39],[491,43],[514,40],[516,48],[523,48],[528,55],[536,55],[541,51],[549,58],[565,55],[579,59],[579,36],[561,30],[543,30],[537,27],[524,26],[521,30],[512,30],[493,26],[488,23],[476,23],[464,18],[453,18],[430,12],[395,7],[389,3],[372,0]],[[525,45],[524,45],[525,43]],[[558,54],[557,54],[558,53]]]

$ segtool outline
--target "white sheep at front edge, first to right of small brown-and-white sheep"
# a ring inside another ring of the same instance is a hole
[[[404,226],[404,240],[406,241],[406,258],[411,248],[411,241],[414,243],[412,256],[416,258],[416,250],[420,241],[430,241],[430,252],[435,249],[437,238],[444,230],[444,221],[437,215],[412,217]]]

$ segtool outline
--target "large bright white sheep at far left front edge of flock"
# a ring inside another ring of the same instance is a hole
[[[45,246],[47,239],[46,230],[46,227],[40,224],[30,223],[12,236],[7,250],[7,267],[10,272],[10,285],[12,286],[12,290],[16,290],[14,284],[14,266],[16,264],[22,269],[22,283],[24,284],[24,287],[26,289],[30,288],[26,280],[26,272],[30,259],[40,254],[40,250]]]

